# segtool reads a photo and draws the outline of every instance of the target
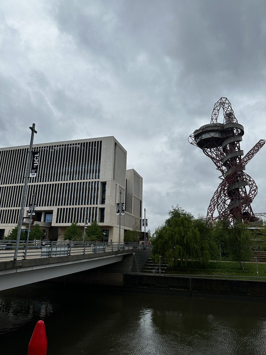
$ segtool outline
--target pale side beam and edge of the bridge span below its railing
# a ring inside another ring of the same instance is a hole
[[[111,251],[73,256],[0,262],[0,291],[122,261],[133,251]]]

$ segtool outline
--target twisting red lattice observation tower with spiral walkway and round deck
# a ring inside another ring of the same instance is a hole
[[[223,109],[223,123],[217,122],[220,109]],[[189,137],[190,144],[202,149],[203,153],[216,165],[222,175],[222,182],[210,201],[206,218],[210,222],[227,220],[231,224],[237,221],[244,223],[260,223],[251,209],[251,202],[257,195],[255,181],[243,170],[246,164],[264,146],[265,140],[260,140],[243,157],[240,142],[244,135],[244,127],[235,118],[231,103],[226,97],[221,97],[214,105],[210,124],[201,126]],[[214,217],[214,214],[218,216]],[[216,213],[215,213],[216,212]]]

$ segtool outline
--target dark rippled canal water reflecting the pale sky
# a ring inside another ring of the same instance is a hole
[[[41,284],[43,287],[43,283]],[[266,302],[109,288],[0,293],[0,354],[26,355],[44,320],[47,355],[262,355]]]

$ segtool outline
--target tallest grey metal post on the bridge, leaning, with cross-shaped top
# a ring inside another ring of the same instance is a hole
[[[21,234],[21,227],[22,227],[24,208],[25,208],[25,202],[26,202],[27,186],[28,186],[28,181],[29,181],[29,169],[31,167],[31,159],[32,159],[33,138],[34,138],[34,133],[37,133],[37,131],[35,131],[35,123],[33,123],[32,127],[29,127],[29,129],[32,131],[32,134],[31,134],[31,142],[29,144],[28,163],[27,163],[27,170],[26,170],[26,176],[25,176],[25,184],[24,184],[21,210],[20,210],[20,220],[18,222],[17,241],[16,241],[16,246],[15,246],[15,253],[14,253],[14,260],[13,261],[17,261],[18,246],[20,244],[20,234]]]

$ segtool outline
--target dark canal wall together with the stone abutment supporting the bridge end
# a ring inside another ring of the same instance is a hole
[[[266,297],[266,282],[250,280],[210,279],[172,275],[142,274],[151,250],[136,251],[123,260],[96,269],[51,279],[51,282],[124,288],[178,291],[196,294],[223,294]]]

